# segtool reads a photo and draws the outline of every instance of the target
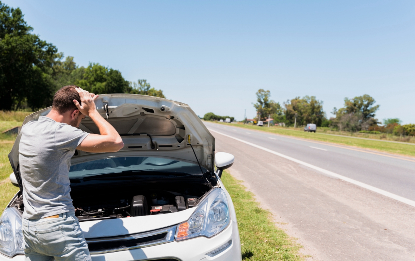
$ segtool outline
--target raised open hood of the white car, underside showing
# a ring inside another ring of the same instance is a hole
[[[115,153],[88,153],[76,151],[71,162],[102,159],[116,155],[155,156],[178,159],[198,164],[213,173],[215,138],[187,104],[163,98],[136,94],[104,94],[95,100],[100,115],[117,130],[124,147]],[[24,119],[23,125],[49,113],[51,107],[34,112]],[[23,126],[22,125],[22,126]],[[98,127],[86,117],[79,129],[99,134]],[[190,134],[190,144],[188,138]],[[150,135],[154,146],[151,148]],[[19,143],[21,133],[9,154],[9,160],[20,179]],[[41,139],[41,137],[39,137]]]

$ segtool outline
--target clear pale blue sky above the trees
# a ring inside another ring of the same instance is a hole
[[[369,94],[379,120],[415,123],[414,1],[4,2],[79,65],[147,79],[200,116],[253,117],[262,88],[316,96],[328,117]]]

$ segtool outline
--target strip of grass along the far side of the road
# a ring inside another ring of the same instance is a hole
[[[229,123],[218,123],[218,124],[225,124],[229,125]],[[316,141],[325,141],[331,143],[337,143],[342,145],[348,146],[356,146],[364,149],[374,149],[378,151],[393,153],[393,154],[401,154],[405,156],[415,156],[415,145],[412,144],[402,144],[402,143],[393,143],[393,142],[385,142],[385,141],[377,141],[377,140],[367,140],[367,139],[354,139],[351,137],[339,137],[339,136],[332,136],[327,135],[324,133],[313,133],[313,132],[304,132],[301,130],[294,130],[282,127],[259,127],[256,125],[249,125],[249,124],[232,124],[232,127],[240,127],[245,129],[254,129],[260,130],[263,132],[271,132],[275,134],[287,135],[292,137],[298,137],[303,139],[312,139]]]

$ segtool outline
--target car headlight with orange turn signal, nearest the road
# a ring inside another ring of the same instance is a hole
[[[199,203],[188,221],[177,225],[176,241],[193,237],[213,237],[230,223],[228,201],[221,188],[213,189]]]

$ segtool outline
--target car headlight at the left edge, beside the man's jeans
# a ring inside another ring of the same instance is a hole
[[[24,254],[22,215],[14,207],[7,207],[0,217],[0,253],[6,256]]]

